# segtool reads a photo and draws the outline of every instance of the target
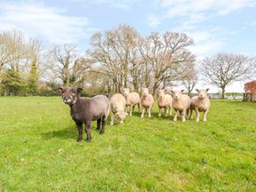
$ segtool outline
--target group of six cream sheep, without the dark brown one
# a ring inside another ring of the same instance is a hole
[[[159,108],[158,116],[161,117],[162,109],[166,111],[166,117],[171,116],[171,108],[174,109],[174,118],[177,120],[178,111],[180,112],[181,119],[183,121],[192,119],[193,110],[196,111],[196,120],[200,120],[200,111],[203,111],[203,121],[206,121],[206,116],[210,108],[210,100],[207,97],[207,89],[196,89],[198,95],[190,99],[188,95],[185,95],[184,90],[171,90],[172,97],[166,93],[165,89],[157,90],[157,104]],[[152,104],[154,103],[152,94],[149,92],[149,88],[142,89],[142,97],[136,92],[130,92],[129,88],[123,88],[124,96],[120,93],[114,94],[110,99],[111,106],[111,124],[114,124],[115,116],[123,122],[126,115],[126,106],[129,109],[130,116],[132,116],[135,106],[138,106],[139,112],[141,112],[141,118],[144,118],[145,111],[148,112],[149,118],[152,117]],[[142,107],[142,110],[141,110]],[[189,114],[190,112],[190,114]],[[188,118],[189,116],[189,118]]]

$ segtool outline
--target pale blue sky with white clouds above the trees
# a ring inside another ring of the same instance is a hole
[[[68,42],[84,51],[92,33],[118,24],[143,35],[184,32],[199,58],[223,51],[256,56],[255,0],[0,0],[0,30],[18,29],[45,47]],[[242,91],[243,83],[231,90]]]

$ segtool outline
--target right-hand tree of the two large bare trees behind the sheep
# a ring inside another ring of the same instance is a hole
[[[146,47],[140,48],[140,53],[152,68],[153,94],[161,84],[184,78],[193,67],[190,64],[195,56],[186,49],[191,44],[193,40],[182,33],[152,33],[146,39]]]

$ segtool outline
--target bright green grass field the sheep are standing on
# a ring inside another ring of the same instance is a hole
[[[152,119],[76,142],[61,98],[0,98],[0,191],[256,191],[256,104],[213,100],[207,122]]]

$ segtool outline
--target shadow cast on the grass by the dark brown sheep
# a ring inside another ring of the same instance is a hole
[[[60,129],[60,130],[43,133],[43,134],[41,134],[41,136],[44,139],[52,139],[54,137],[63,138],[63,139],[76,138],[77,130],[75,127],[72,126],[72,127],[66,127],[64,129]]]

